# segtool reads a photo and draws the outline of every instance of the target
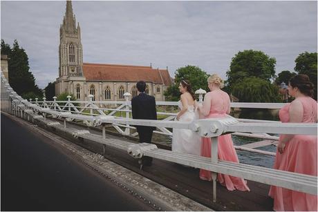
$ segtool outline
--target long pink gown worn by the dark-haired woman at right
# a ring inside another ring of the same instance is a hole
[[[303,105],[302,123],[317,122],[317,102],[310,97],[297,98]],[[289,122],[290,104],[279,110],[281,122]],[[279,140],[284,135],[279,137]],[[294,135],[287,142],[283,153],[276,153],[274,168],[317,176],[317,136]],[[275,211],[317,211],[317,195],[310,195],[277,186],[268,194],[274,199]]]

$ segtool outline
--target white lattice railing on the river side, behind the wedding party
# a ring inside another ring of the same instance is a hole
[[[205,90],[197,90],[196,93],[199,95],[199,104],[202,103],[203,94]],[[93,101],[93,95],[89,95],[89,101],[71,101],[71,96],[68,96],[68,101],[56,101],[57,97],[53,97],[54,101],[46,101],[46,98],[43,98],[43,101],[38,101],[36,98],[35,101],[32,102],[32,99],[29,99],[31,103],[37,104],[41,108],[50,108],[51,110],[56,110],[59,112],[72,112],[79,115],[91,115],[91,116],[114,116],[114,117],[131,117],[131,101],[129,101],[129,97],[131,95],[129,93],[124,93],[125,101]],[[178,108],[178,102],[156,102],[158,107],[158,116],[162,120],[175,120],[178,113],[176,110],[173,110],[172,113],[161,112],[161,110],[169,107],[169,108]],[[285,104],[282,103],[236,103],[232,102],[232,108],[270,108],[270,109],[279,109],[282,108]],[[256,122],[255,119],[238,119],[240,122]],[[85,124],[88,124],[87,121],[84,121]],[[264,123],[281,123],[274,121],[265,121],[258,120],[258,122]],[[113,128],[115,128],[118,133],[122,135],[131,135],[137,136],[138,133],[135,130],[134,126],[130,124],[115,124],[109,123]],[[165,126],[158,126],[156,131],[153,133],[167,135],[169,137],[172,136],[171,130]],[[245,144],[241,146],[234,146],[238,150],[250,151],[253,153],[261,153],[265,155],[276,155],[276,153],[272,153],[269,151],[261,151],[255,148],[260,146],[268,146],[268,145],[277,145],[277,141],[279,137],[270,136],[267,134],[257,134],[257,133],[232,133],[232,135],[238,135],[241,137],[254,137],[263,139],[261,142],[254,142],[253,144]]]

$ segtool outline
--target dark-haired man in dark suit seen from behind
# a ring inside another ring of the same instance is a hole
[[[146,83],[138,81],[136,84],[138,96],[131,99],[131,110],[133,119],[157,119],[156,100],[155,97],[144,93],[146,90]],[[136,126],[139,134],[139,142],[151,143],[152,132],[156,130],[153,126]],[[142,157],[142,164],[144,166],[151,166],[152,157]]]

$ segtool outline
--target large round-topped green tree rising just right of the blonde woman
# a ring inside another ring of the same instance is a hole
[[[256,50],[243,50],[232,58],[227,71],[228,85],[232,87],[245,77],[259,77],[270,81],[275,75],[276,59]]]

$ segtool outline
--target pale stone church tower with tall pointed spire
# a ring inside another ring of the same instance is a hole
[[[83,50],[81,29],[76,26],[72,1],[66,1],[66,12],[59,28],[59,78],[82,77]]]

